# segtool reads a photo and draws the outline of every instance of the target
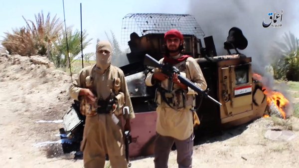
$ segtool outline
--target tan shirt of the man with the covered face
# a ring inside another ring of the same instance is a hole
[[[107,99],[111,94],[111,89],[113,88],[113,79],[120,78],[120,92],[125,94],[125,106],[128,106],[130,109],[129,118],[135,118],[128,86],[125,81],[125,75],[120,68],[110,65],[110,67],[104,73],[101,73],[100,69],[95,65],[83,68],[79,72],[78,78],[71,84],[69,88],[71,98],[79,100],[78,96],[81,88],[86,88],[85,79],[87,76],[93,77],[94,84],[92,85],[92,92],[97,97],[97,100],[100,98]],[[113,92],[112,96],[114,96]]]

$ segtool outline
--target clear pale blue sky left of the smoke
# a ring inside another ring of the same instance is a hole
[[[109,35],[110,30],[113,31],[121,42],[122,19],[128,13],[169,13],[176,6],[180,13],[185,13],[188,7],[188,0],[64,0],[66,24],[79,30],[80,3],[82,28],[93,38],[86,52],[94,52],[97,38],[107,39],[105,31]],[[62,4],[62,0],[1,0],[0,39],[3,32],[25,25],[22,15],[34,20],[34,14],[43,10],[44,15],[50,12],[52,17],[57,14],[63,20]]]

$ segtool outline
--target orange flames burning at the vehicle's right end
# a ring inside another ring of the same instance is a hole
[[[263,79],[261,75],[256,73],[253,74],[253,78],[255,78],[258,81],[262,81]],[[267,88],[267,86],[263,87],[263,91],[264,94],[267,95],[267,104],[271,106],[271,103],[273,103],[276,106],[276,108],[280,111],[283,118],[286,119],[286,112],[283,109],[289,104],[289,100],[282,93],[272,91],[271,89]]]

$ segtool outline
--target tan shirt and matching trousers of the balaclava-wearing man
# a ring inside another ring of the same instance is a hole
[[[110,96],[116,96],[113,92],[113,84],[117,78],[120,79],[119,91],[124,93],[125,106],[129,107],[130,115],[117,116],[119,122],[116,124],[115,120],[117,119],[113,119],[111,113],[86,114],[83,141],[81,143],[85,168],[104,168],[106,154],[109,155],[109,160],[113,168],[128,167],[125,158],[122,118],[133,119],[135,118],[135,114],[124,73],[116,66],[110,65],[104,73],[101,73],[97,66],[85,67],[70,86],[70,95],[75,100],[79,100],[78,96],[81,88],[90,88],[97,97],[97,100],[105,100]],[[90,79],[92,83],[90,83]],[[97,108],[96,105],[93,107]]]

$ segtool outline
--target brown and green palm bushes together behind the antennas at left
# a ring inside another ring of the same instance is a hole
[[[44,17],[41,11],[35,14],[35,21],[27,20],[26,26],[15,28],[12,33],[6,32],[2,46],[9,54],[22,56],[46,55],[56,67],[65,67],[68,61],[67,45],[63,22],[56,17],[51,19],[50,13]],[[67,27],[67,39],[72,61],[81,52],[81,32]],[[90,44],[87,32],[82,32],[83,49]],[[88,56],[88,55],[87,55]]]

